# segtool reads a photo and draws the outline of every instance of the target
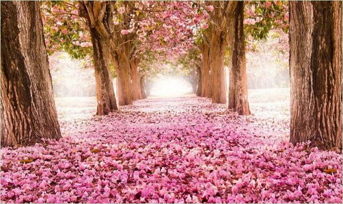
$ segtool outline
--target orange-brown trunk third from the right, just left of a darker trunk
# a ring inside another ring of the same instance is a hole
[[[210,41],[212,103],[226,103],[226,82],[224,71],[225,48],[226,43],[222,38],[221,32],[213,29]]]

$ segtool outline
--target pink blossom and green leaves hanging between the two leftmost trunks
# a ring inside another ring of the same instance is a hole
[[[86,23],[78,16],[77,1],[42,1],[41,15],[49,54],[66,51],[77,59],[92,54]]]

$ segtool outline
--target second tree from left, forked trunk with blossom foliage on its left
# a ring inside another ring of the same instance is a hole
[[[94,5],[95,11],[90,11],[89,9]],[[105,8],[106,11],[104,11]],[[108,18],[109,15],[112,16],[111,8],[112,5],[106,2],[96,2],[95,4],[83,1],[42,2],[42,17],[48,52],[51,54],[56,50],[67,51],[77,59],[92,55],[98,115],[105,115],[118,109],[109,66],[109,32],[113,25],[109,24],[110,27],[108,27],[107,23],[113,22]],[[98,13],[99,11],[101,12]],[[103,28],[104,24],[106,24],[106,28]],[[89,32],[85,32],[85,30]]]

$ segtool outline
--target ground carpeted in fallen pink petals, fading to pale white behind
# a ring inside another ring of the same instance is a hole
[[[249,94],[250,116],[194,96],[102,117],[56,99],[63,138],[1,150],[1,201],[342,202],[342,155],[288,142],[289,89]]]

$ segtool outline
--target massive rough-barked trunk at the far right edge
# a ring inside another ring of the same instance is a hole
[[[291,135],[342,148],[342,3],[293,2],[290,10]]]

